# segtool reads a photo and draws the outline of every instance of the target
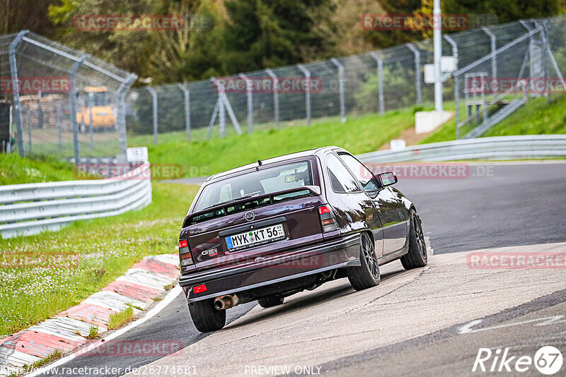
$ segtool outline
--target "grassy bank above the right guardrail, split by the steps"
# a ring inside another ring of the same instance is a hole
[[[466,110],[461,107],[461,114]],[[461,135],[470,131],[470,126],[461,129]],[[483,137],[513,135],[543,135],[566,133],[566,95],[553,95],[550,104],[546,97],[529,99],[499,124],[492,127]],[[456,139],[456,121],[452,119],[437,131],[420,141],[420,144],[438,143]]]

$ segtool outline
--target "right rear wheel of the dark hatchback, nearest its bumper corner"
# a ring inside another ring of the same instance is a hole
[[[362,265],[359,267],[349,267],[346,275],[350,284],[357,291],[379,285],[381,275],[377,264],[374,241],[367,233],[359,236],[359,260]]]

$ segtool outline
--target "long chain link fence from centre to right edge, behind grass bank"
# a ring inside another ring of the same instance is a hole
[[[442,55],[456,61],[456,71],[446,74],[444,100],[451,102],[446,109],[456,109],[462,134],[484,124],[517,94],[516,88],[484,89],[482,100],[482,90],[466,87],[475,76],[490,83],[562,77],[565,20],[525,20],[444,35]],[[424,66],[432,63],[432,40],[424,40],[311,64],[137,88],[127,95],[128,131],[153,134],[154,143],[172,131],[177,131],[175,138],[185,133],[187,139],[205,140],[329,119],[344,122],[349,116],[407,107],[432,108],[434,84],[424,82]]]

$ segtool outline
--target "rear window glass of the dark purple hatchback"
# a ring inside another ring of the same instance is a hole
[[[310,161],[267,167],[205,186],[193,212],[241,198],[253,198],[312,185],[313,172]]]

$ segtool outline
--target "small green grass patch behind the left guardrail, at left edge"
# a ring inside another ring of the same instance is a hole
[[[17,153],[0,153],[0,186],[75,179],[73,165],[55,157],[21,158]]]

